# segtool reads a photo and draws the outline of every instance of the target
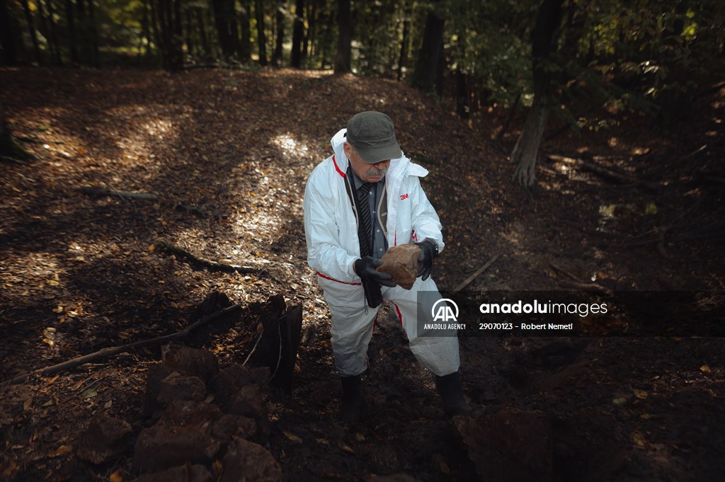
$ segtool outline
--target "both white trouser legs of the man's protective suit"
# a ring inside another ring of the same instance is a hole
[[[335,368],[342,376],[360,375],[368,368],[368,345],[379,307],[367,307],[363,286],[321,277],[318,281],[332,313],[331,343]],[[418,278],[410,290],[383,286],[382,294],[383,299],[394,304],[410,351],[418,361],[435,375],[449,375],[457,371],[460,358],[455,331],[447,336],[418,336],[418,322],[431,323],[431,308],[441,299],[436,283],[431,278],[426,281]],[[419,317],[422,319],[419,320]]]

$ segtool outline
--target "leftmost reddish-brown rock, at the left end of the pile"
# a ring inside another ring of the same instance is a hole
[[[102,464],[120,457],[125,452],[133,429],[125,420],[96,415],[78,443],[78,458]]]

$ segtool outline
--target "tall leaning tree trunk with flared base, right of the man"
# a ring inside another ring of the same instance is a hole
[[[531,65],[534,72],[534,104],[526,116],[521,135],[511,153],[516,164],[513,180],[521,186],[536,183],[536,165],[544,129],[551,112],[552,75],[550,62],[555,49],[555,33],[560,27],[564,0],[544,0],[539,7],[537,23],[531,33]]]

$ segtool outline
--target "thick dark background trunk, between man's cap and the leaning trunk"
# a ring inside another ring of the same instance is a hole
[[[445,21],[436,12],[439,4],[440,0],[436,0],[433,9],[428,12],[426,29],[423,30],[423,45],[418,52],[418,60],[415,63],[415,72],[413,72],[413,86],[426,92],[432,91],[434,87],[436,87],[436,91],[441,91],[442,88],[439,70],[441,70],[443,61]]]

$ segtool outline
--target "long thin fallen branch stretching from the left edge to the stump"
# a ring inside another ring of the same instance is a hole
[[[228,313],[231,313],[239,308],[241,308],[241,304],[233,304],[233,305],[231,305],[231,307],[226,307],[225,309],[222,309],[216,313],[212,313],[212,315],[208,315],[199,320],[196,320],[194,323],[191,323],[191,325],[188,325],[186,328],[184,328],[181,331],[177,331],[176,333],[171,333],[169,335],[164,335],[164,336],[157,336],[156,338],[151,338],[149,340],[134,341],[133,343],[125,344],[123,346],[110,346],[107,348],[102,348],[97,352],[89,353],[89,354],[86,354],[86,355],[83,355],[80,357],[75,357],[72,360],[66,360],[65,362],[57,363],[56,365],[51,365],[49,367],[40,368],[38,370],[33,370],[32,372],[22,373],[20,375],[15,376],[14,378],[10,378],[9,380],[0,383],[0,385],[1,386],[7,385],[7,384],[16,385],[18,383],[27,381],[28,378],[30,378],[33,375],[49,376],[49,375],[53,375],[54,373],[62,372],[64,370],[70,370],[72,368],[78,367],[80,365],[84,365],[86,363],[98,362],[100,360],[106,360],[109,357],[113,357],[114,355],[121,354],[121,353],[130,352],[131,350],[148,348],[149,346],[159,346],[159,345],[168,343],[170,341],[175,341],[175,340],[188,336],[188,334],[191,333],[191,331],[194,331],[196,328],[199,328],[199,326],[205,325],[205,324],[209,323],[210,321],[215,320],[216,318],[221,317],[223,315],[227,315]]]

